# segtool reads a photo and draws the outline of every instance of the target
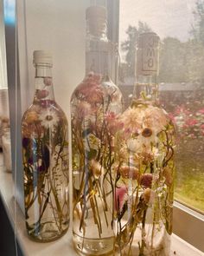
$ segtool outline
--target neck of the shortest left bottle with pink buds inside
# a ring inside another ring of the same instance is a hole
[[[52,69],[45,64],[35,64],[34,102],[40,101],[54,101]]]

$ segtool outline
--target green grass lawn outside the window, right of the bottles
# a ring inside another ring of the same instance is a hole
[[[204,152],[198,151],[203,141],[192,141],[175,155],[175,199],[204,214]]]

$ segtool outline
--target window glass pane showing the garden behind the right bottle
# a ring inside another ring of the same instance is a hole
[[[119,85],[136,80],[138,34],[160,36],[160,101],[177,129],[175,199],[204,213],[204,1],[121,0]]]

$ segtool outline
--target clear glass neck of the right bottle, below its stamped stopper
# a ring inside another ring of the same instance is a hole
[[[158,104],[157,75],[138,75],[134,87],[133,102]]]

